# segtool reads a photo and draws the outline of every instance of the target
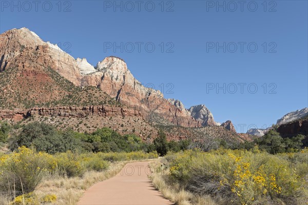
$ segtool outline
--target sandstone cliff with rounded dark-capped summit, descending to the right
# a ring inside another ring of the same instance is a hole
[[[97,65],[98,72],[83,76],[82,86],[95,86],[145,115],[158,114],[174,125],[200,127],[188,112],[169,103],[158,90],[146,88],[133,77],[126,63],[118,57],[106,57]]]

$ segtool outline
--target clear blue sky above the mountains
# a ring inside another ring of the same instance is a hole
[[[187,108],[205,104],[216,121],[261,128],[307,107],[307,1],[23,2],[0,2],[1,33],[27,27],[92,65],[119,56],[141,83],[164,84]]]

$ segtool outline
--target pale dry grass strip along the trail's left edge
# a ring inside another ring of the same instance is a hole
[[[83,177],[54,178],[45,180],[38,186],[34,194],[42,198],[46,194],[55,194],[57,199],[53,204],[72,205],[76,204],[85,190],[94,183],[104,181],[117,175],[126,162],[113,163],[111,169],[103,172],[86,172]]]

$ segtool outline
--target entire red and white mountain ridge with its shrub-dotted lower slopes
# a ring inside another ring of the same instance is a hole
[[[0,34],[0,57],[0,120],[35,119],[89,132],[110,127],[143,138],[168,126],[181,127],[186,137],[194,138],[195,132],[187,128],[210,125],[203,129],[213,134],[208,139],[217,135],[212,129],[225,130],[225,138],[241,139],[229,132],[230,124],[216,126],[204,105],[187,110],[179,100],[144,87],[119,57],[106,57],[93,67],[86,58],[74,59],[27,28]]]

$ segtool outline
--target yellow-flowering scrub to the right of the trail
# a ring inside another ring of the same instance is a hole
[[[169,153],[165,159],[169,180],[200,196],[210,195],[222,204],[305,204],[307,153],[188,150]]]

